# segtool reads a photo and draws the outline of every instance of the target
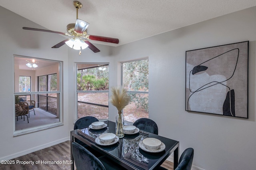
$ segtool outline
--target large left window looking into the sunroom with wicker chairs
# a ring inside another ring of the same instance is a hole
[[[29,67],[27,63],[36,63],[38,67]],[[60,61],[14,56],[14,107],[19,105],[19,98],[26,105],[31,105],[30,101],[34,103],[34,110],[29,112],[29,123],[20,117],[17,121],[14,113],[14,136],[63,125],[61,64]]]

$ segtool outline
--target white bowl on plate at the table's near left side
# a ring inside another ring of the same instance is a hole
[[[118,136],[114,133],[103,133],[95,139],[95,142],[99,145],[108,146],[117,143],[118,140]]]

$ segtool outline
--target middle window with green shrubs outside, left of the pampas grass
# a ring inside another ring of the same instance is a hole
[[[108,64],[76,64],[77,118],[108,119]]]

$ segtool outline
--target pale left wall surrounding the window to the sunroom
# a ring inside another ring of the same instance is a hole
[[[63,61],[64,75],[68,75],[68,49],[52,49],[64,40],[58,34],[23,30],[22,27],[41,26],[0,6],[0,158],[14,158],[39,148],[69,140],[68,77],[63,77],[64,125],[14,137],[14,55]],[[44,28],[42,28],[44,29]],[[47,39],[52,40],[48,42]]]

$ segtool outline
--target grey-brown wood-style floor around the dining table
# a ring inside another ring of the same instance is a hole
[[[22,145],[15,147],[22,147]],[[70,141],[68,140],[10,161],[14,162],[14,164],[0,164],[0,170],[70,170]],[[34,165],[31,162],[21,161],[34,161]],[[173,163],[168,160],[161,166],[168,170],[173,170]]]

